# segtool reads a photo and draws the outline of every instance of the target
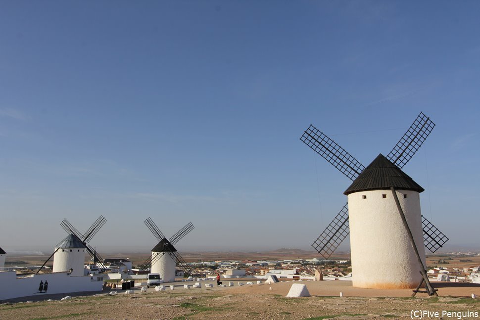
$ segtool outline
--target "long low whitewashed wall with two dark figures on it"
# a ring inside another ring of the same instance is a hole
[[[95,279],[96,277],[94,277]],[[40,281],[48,282],[47,292],[39,292]],[[57,293],[101,291],[103,281],[92,280],[90,276],[71,276],[66,273],[35,274],[17,278],[16,272],[0,272],[0,300],[19,297],[39,296]]]

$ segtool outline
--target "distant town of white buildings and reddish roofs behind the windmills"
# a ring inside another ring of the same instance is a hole
[[[351,263],[347,254],[343,259],[326,260],[323,258],[299,258],[279,260],[212,260],[187,262],[192,273],[184,274],[176,270],[177,277],[214,278],[220,274],[222,278],[258,278],[266,279],[275,274],[280,280],[351,280]],[[85,265],[85,274],[98,274],[104,271],[107,279],[132,276],[141,278],[149,270],[140,269],[128,257],[107,258],[103,261],[104,270],[93,263]],[[7,260],[2,271],[16,271],[17,274],[31,274],[40,266],[27,266],[27,261]],[[374,273],[376,266],[372,266]],[[432,281],[473,282],[480,283],[480,253],[450,252],[427,256],[427,273]],[[45,266],[40,273],[51,272],[50,266]]]

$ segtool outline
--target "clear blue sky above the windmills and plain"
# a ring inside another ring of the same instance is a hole
[[[0,246],[308,249],[420,111],[404,171],[450,245],[478,244],[478,1],[2,1]],[[347,242],[348,244],[348,242]],[[347,247],[347,246],[346,246]]]

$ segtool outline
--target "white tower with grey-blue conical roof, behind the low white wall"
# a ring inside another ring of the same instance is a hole
[[[86,248],[78,237],[67,235],[55,246],[55,250],[52,272],[70,272],[73,269],[71,275],[83,276]]]

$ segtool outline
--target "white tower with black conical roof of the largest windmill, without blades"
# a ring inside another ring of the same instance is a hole
[[[422,280],[422,267],[390,190],[392,186],[426,266],[419,194],[424,189],[379,155],[344,192],[348,195],[354,287],[415,288]]]

